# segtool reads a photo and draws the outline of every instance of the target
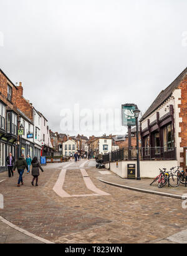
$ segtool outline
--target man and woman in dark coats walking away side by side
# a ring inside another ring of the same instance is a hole
[[[34,186],[34,180],[36,180],[36,186],[37,186],[38,185],[37,184],[38,176],[40,175],[39,169],[41,169],[42,172],[44,172],[44,170],[42,169],[41,165],[39,164],[37,157],[34,157],[34,159],[32,159],[31,165],[32,165],[32,176],[33,176],[31,184]],[[16,168],[17,168],[17,172],[19,173],[17,187],[20,187],[20,183],[22,185],[24,185],[24,182],[22,180],[22,175],[24,174],[24,170],[27,169],[27,171],[28,171],[28,165],[27,165],[26,160],[24,159],[24,155],[21,155],[21,157],[19,157],[19,159],[14,164],[13,170],[16,170]]]

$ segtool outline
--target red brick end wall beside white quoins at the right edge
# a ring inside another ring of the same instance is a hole
[[[179,132],[179,137],[181,137],[180,147],[187,147],[187,75],[183,78],[178,89],[181,89],[181,104],[180,107],[180,117],[182,117],[183,122],[180,123],[181,132]],[[181,154],[183,157],[183,153]],[[182,163],[181,163],[182,166]]]

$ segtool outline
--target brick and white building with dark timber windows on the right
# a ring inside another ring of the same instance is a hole
[[[161,91],[140,119],[143,157],[178,160],[187,147],[187,68]]]

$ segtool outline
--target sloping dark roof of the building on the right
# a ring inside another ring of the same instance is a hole
[[[151,106],[148,108],[145,114],[143,114],[143,116],[141,117],[140,122],[143,121],[143,119],[145,119],[146,117],[150,116],[150,114],[154,112],[155,109],[161,106],[161,104],[163,104],[163,102],[165,102],[166,99],[168,99],[171,96],[173,91],[175,91],[175,89],[178,87],[180,82],[183,80],[183,77],[185,76],[186,73],[187,73],[187,67],[183,72],[181,72],[181,74],[178,77],[176,77],[176,79],[170,84],[170,86],[166,87],[165,90],[161,91],[160,94],[158,94],[155,101],[153,101]]]

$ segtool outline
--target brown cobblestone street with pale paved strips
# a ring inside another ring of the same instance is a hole
[[[26,172],[24,185],[16,187],[17,171],[12,178],[4,172],[0,174],[0,181],[6,179],[0,184],[4,195],[0,215],[55,243],[170,243],[168,237],[187,229],[182,200],[113,187],[98,180],[107,175],[95,168],[95,160],[48,164],[39,176],[39,187],[32,187],[31,174]],[[64,182],[58,187],[61,177]],[[1,243],[6,238],[3,225]]]

